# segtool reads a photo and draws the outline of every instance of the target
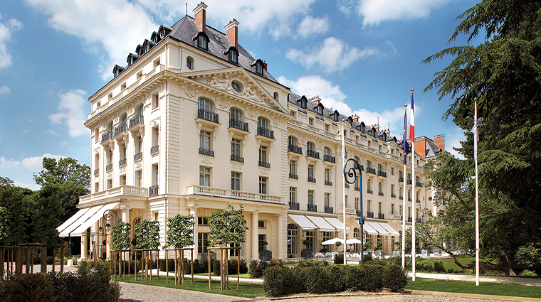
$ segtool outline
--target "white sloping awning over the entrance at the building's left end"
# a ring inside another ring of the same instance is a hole
[[[107,205],[96,205],[88,209],[82,209],[66,220],[56,230],[60,237],[81,236],[90,226],[98,222],[103,214],[116,207],[119,203],[107,203]],[[84,212],[83,212],[84,211]],[[75,219],[73,219],[75,217]],[[71,222],[68,224],[68,222]]]

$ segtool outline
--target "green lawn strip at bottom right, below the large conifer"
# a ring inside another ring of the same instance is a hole
[[[526,286],[519,284],[503,284],[492,282],[479,282],[476,286],[472,281],[445,281],[437,279],[416,278],[411,279],[404,289],[418,291],[445,291],[448,293],[479,293],[483,295],[518,296],[527,298],[541,297],[541,286]]]

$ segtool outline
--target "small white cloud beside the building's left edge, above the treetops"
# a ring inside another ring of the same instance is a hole
[[[53,124],[67,126],[71,137],[88,134],[88,129],[84,125],[86,121],[84,112],[86,100],[83,95],[85,94],[86,92],[80,89],[61,93],[59,95],[60,102],[58,103],[60,112],[49,115],[49,119]]]

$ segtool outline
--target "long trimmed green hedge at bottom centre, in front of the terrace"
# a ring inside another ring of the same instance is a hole
[[[401,291],[407,284],[406,271],[396,264],[308,265],[294,268],[269,267],[263,273],[263,289],[268,296],[283,296],[306,292],[380,291],[382,288]]]

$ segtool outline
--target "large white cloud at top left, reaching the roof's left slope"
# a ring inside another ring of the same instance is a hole
[[[87,50],[105,49],[107,57],[99,66],[103,80],[112,77],[115,64],[126,65],[128,53],[134,53],[137,44],[150,38],[159,27],[133,1],[26,0],[26,3],[48,16],[51,27],[81,38]]]

